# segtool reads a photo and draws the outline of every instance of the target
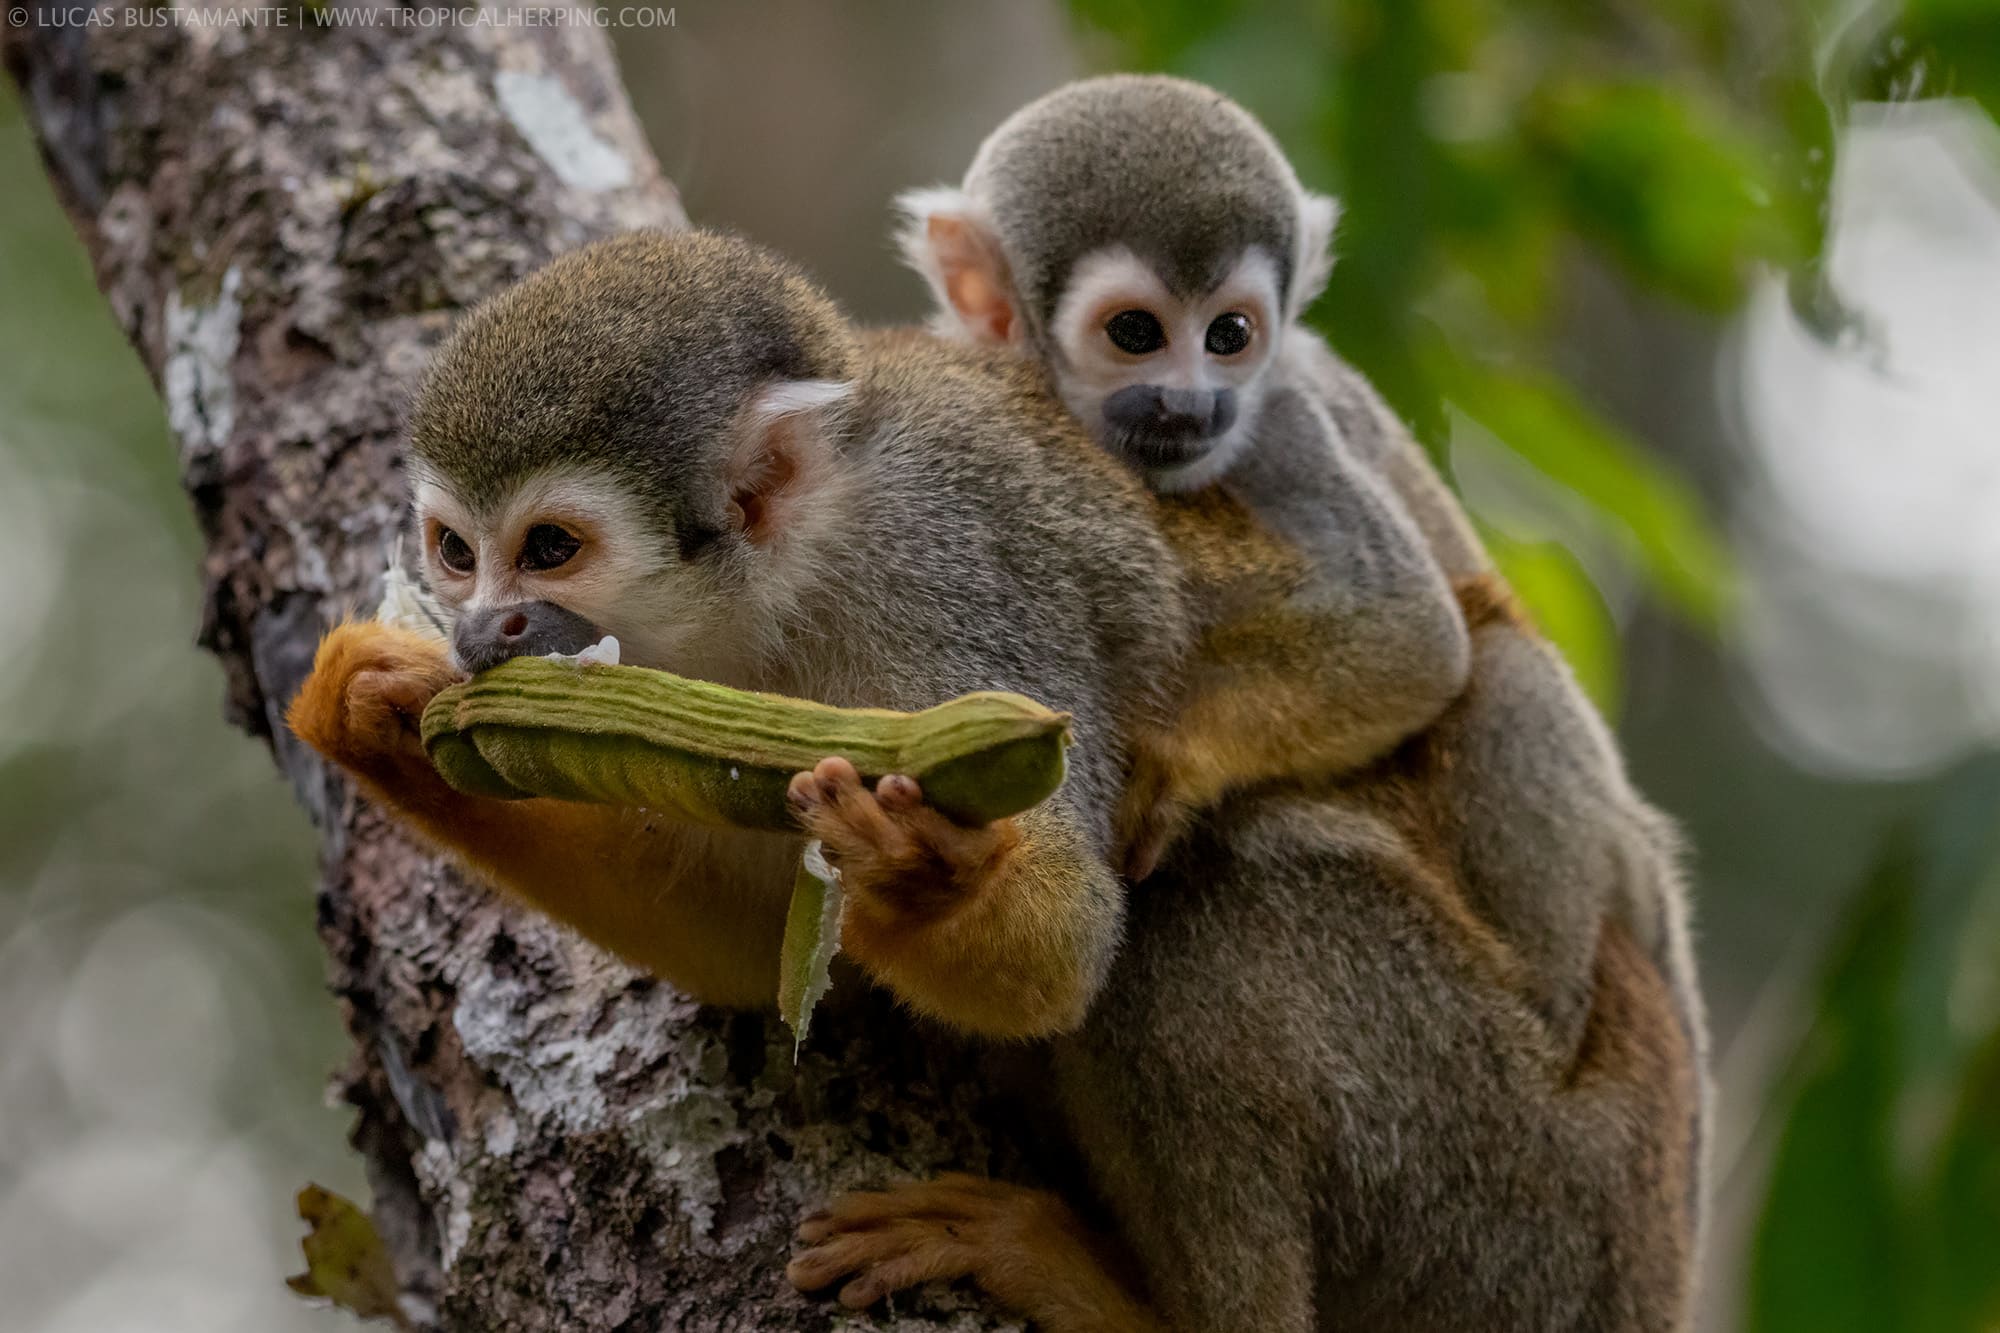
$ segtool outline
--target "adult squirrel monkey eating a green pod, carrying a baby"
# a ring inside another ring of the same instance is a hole
[[[808,1219],[804,1287],[970,1275],[1052,1333],[1670,1329],[1686,1307],[1688,1047],[1616,921],[1558,1047],[1430,847],[1446,747],[1244,795],[1156,885],[1112,873],[1126,739],[1192,632],[1168,522],[1016,356],[858,334],[736,240],[640,234],[468,316],[412,414],[428,576],[466,664],[574,650],[844,705],[1014,689],[1076,719],[1064,789],[986,829],[800,775],[844,949],[968,1031],[1048,1035],[1048,1093],[1138,1259],[1052,1195],[946,1179]],[[444,787],[458,675],[328,636],[300,737],[498,887],[718,1003],[768,1005],[796,843]],[[886,787],[886,783],[884,783]]]

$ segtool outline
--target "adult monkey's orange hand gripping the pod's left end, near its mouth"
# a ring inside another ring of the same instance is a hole
[[[442,779],[418,735],[424,705],[460,681],[444,644],[410,630],[354,620],[340,624],[312,658],[286,721],[328,761],[396,795]]]

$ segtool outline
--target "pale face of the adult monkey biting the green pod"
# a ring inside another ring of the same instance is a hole
[[[452,612],[466,671],[580,652],[604,634],[626,662],[686,666],[690,638],[710,626],[712,580],[612,474],[548,470],[484,506],[420,476],[414,508],[426,584]]]

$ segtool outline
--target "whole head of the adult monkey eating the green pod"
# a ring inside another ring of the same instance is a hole
[[[410,414],[416,538],[460,664],[740,669],[814,532],[854,342],[742,240],[636,232],[478,306]]]

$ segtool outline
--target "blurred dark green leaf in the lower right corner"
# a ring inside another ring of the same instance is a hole
[[[2000,763],[1886,849],[1778,1089],[1748,1327],[2000,1327]]]

